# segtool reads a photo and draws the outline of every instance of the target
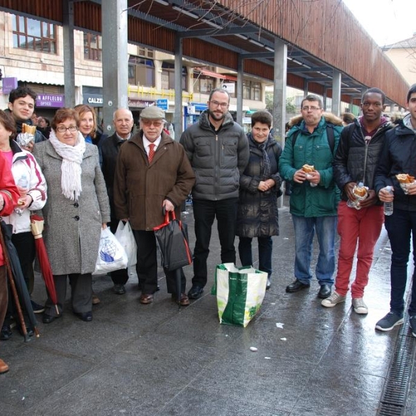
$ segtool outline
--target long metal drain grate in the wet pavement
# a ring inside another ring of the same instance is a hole
[[[411,290],[408,297],[410,297],[410,293]],[[399,329],[395,352],[381,395],[377,416],[401,416],[404,414],[414,356],[415,338],[409,333],[409,322],[406,317],[404,324]]]

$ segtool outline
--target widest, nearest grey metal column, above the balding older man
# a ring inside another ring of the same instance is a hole
[[[127,0],[103,1],[103,118],[104,132],[113,131],[117,108],[128,108]]]

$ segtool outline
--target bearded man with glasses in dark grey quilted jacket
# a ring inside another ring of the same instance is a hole
[[[196,184],[192,189],[196,243],[193,250],[193,279],[188,293],[198,299],[207,284],[207,259],[214,218],[218,223],[221,263],[236,263],[234,239],[240,174],[248,164],[248,139],[229,114],[229,94],[216,88],[209,94],[208,108],[198,123],[182,133]]]

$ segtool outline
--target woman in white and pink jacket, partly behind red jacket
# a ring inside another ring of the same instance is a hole
[[[0,110],[0,151],[12,170],[12,175],[20,193],[19,205],[4,218],[5,223],[12,225],[12,243],[19,256],[21,271],[28,288],[33,288],[33,261],[35,260],[35,239],[31,232],[31,212],[42,209],[46,202],[46,182],[35,157],[27,150],[22,150],[13,140],[16,134],[15,120]],[[44,307],[32,301],[33,311],[42,312]],[[15,315],[12,300],[9,300],[6,319],[0,331],[0,339],[8,340],[12,335],[10,320]],[[28,327],[29,336],[33,328]]]

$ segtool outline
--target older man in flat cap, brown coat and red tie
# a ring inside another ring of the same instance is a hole
[[[189,195],[195,175],[182,145],[163,131],[164,111],[146,107],[140,114],[140,130],[120,148],[114,175],[114,207],[117,218],[130,221],[137,243],[137,276],[141,304],[153,302],[157,291],[157,245],[153,227],[164,222],[163,208],[175,211]],[[164,270],[168,293],[176,300],[175,272]],[[183,271],[182,306],[189,304]]]

